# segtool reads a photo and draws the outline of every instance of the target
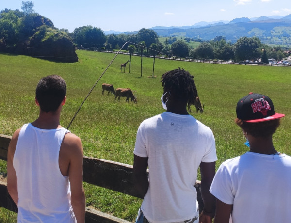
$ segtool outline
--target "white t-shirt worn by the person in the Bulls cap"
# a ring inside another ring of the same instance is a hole
[[[291,221],[291,157],[247,152],[219,167],[210,192],[232,205],[233,223]]]

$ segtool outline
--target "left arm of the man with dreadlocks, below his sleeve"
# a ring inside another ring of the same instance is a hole
[[[136,189],[142,198],[144,198],[148,190],[147,160],[148,157],[139,157],[134,154],[133,179]]]

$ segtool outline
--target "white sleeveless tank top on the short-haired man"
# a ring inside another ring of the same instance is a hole
[[[68,176],[59,167],[65,128],[20,130],[13,166],[17,176],[18,223],[76,223]]]

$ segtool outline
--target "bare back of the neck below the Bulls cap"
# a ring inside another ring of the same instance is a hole
[[[268,138],[253,138],[249,139],[250,152],[261,153],[261,154],[275,154],[275,149],[272,141],[272,137]]]

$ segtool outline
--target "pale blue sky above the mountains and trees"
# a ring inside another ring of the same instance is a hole
[[[0,10],[21,9],[22,0],[0,0]],[[25,1],[25,0],[24,0]],[[32,0],[34,10],[68,29],[91,25],[103,31],[190,26],[240,17],[287,16],[290,0]]]

